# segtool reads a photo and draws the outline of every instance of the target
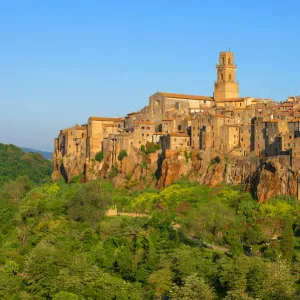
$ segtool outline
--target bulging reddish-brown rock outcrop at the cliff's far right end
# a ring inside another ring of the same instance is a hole
[[[261,161],[253,173],[250,185],[252,195],[264,202],[276,195],[297,195],[297,174],[288,161],[278,157]]]

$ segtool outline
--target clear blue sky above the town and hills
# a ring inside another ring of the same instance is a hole
[[[50,150],[60,129],[156,91],[212,95],[230,47],[241,96],[300,94],[300,1],[0,1],[0,142]]]

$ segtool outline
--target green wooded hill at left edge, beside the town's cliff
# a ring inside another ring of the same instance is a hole
[[[15,145],[0,143],[0,187],[18,176],[40,184],[50,179],[52,163],[40,153],[25,153]]]

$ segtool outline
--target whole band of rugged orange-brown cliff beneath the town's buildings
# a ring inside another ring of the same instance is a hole
[[[256,157],[213,156],[208,152],[166,150],[145,154],[131,151],[122,162],[104,160],[85,162],[76,156],[64,157],[56,166],[53,179],[63,175],[67,182],[85,174],[85,180],[110,178],[116,187],[162,189],[186,176],[192,181],[216,186],[224,182],[242,185],[259,202],[276,195],[297,194],[297,172],[290,167],[288,156],[259,159]]]

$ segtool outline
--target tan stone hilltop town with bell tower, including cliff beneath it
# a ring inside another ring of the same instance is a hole
[[[157,92],[122,118],[90,117],[54,140],[53,178],[116,177],[164,187],[181,176],[242,184],[260,201],[296,195],[300,96],[240,97],[233,52],[220,52],[212,96]],[[115,173],[112,176],[112,173]]]

